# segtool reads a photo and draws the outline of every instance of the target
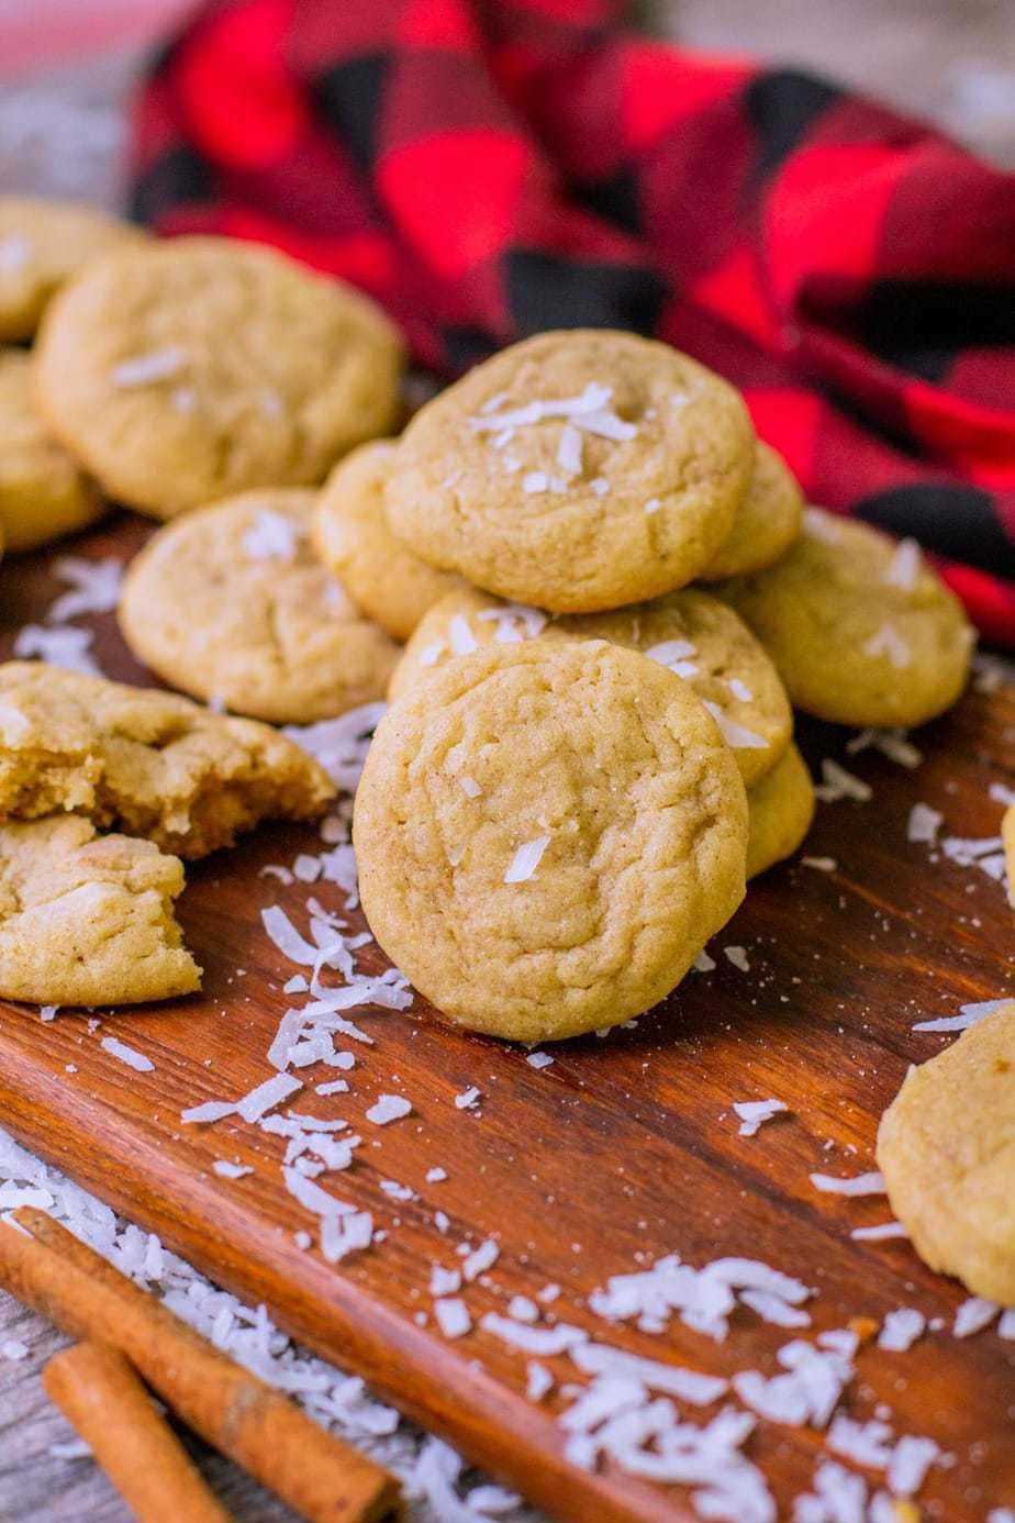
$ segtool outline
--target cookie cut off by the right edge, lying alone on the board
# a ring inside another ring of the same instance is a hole
[[[1015,1305],[1015,1001],[910,1068],[881,1116],[878,1168],[919,1256]]]

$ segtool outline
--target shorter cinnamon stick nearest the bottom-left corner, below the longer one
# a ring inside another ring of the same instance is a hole
[[[230,1523],[123,1355],[75,1343],[50,1359],[43,1386],[81,1433],[137,1523]]]

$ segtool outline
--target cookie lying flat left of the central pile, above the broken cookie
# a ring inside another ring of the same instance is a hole
[[[243,492],[160,528],[123,579],[134,655],[172,687],[278,725],[383,698],[399,647],[313,554],[313,503],[301,487]]]

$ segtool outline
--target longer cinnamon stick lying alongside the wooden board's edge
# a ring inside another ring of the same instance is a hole
[[[402,1515],[394,1476],[326,1433],[154,1296],[27,1206],[32,1237],[0,1224],[0,1284],[76,1339],[114,1343],[184,1422],[309,1523],[387,1523]]]

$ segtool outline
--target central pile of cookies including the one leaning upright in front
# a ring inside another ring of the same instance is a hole
[[[645,1008],[735,909],[730,854],[749,877],[799,847],[814,790],[790,701],[913,725],[954,701],[969,666],[962,609],[916,547],[805,512],[738,393],[630,334],[543,334],[476,367],[397,443],[336,466],[315,542],[408,640],[356,803],[368,918],[446,1014],[501,1036],[546,1040]],[[580,716],[565,717],[562,681]],[[659,841],[671,810],[694,821],[700,896],[671,880],[665,955],[651,892],[635,906],[606,870],[644,825],[639,784],[665,771],[656,737],[654,762],[625,749],[650,742],[639,704],[660,684],[663,716],[667,684],[674,705],[662,730],[686,733],[691,705],[724,758],[706,803],[692,746],[653,793]],[[484,955],[499,944],[508,973]],[[659,961],[632,981],[647,946]]]

